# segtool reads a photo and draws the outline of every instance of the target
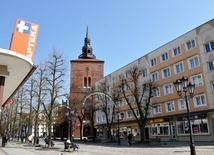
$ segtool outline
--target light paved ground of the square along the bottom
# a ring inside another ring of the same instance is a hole
[[[42,141],[40,142],[43,143]],[[190,155],[188,142],[162,142],[161,145],[134,143],[128,146],[122,141],[121,146],[117,143],[93,143],[76,142],[79,151],[64,151],[62,141],[54,141],[52,149],[44,149],[44,145],[33,145],[17,142],[9,142],[6,147],[0,147],[0,155]],[[197,155],[214,155],[214,142],[196,142]]]

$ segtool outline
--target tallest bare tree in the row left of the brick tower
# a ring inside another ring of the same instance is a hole
[[[48,126],[48,147],[51,142],[51,129],[53,123],[54,109],[58,107],[57,99],[65,96],[64,78],[66,76],[65,59],[62,53],[53,48],[49,59],[46,63],[47,76],[45,77],[46,85],[46,103],[42,102],[44,114],[47,118]],[[56,109],[55,109],[56,110]]]

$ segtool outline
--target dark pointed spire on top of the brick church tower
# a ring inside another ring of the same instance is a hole
[[[93,49],[90,45],[90,38],[88,37],[88,25],[86,28],[86,37],[84,40],[84,46],[82,47],[82,54],[78,58],[82,59],[96,59],[96,56],[92,53]]]

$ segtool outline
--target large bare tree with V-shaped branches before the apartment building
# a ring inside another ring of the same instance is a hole
[[[152,98],[152,83],[148,81],[147,83],[141,85],[141,74],[142,71],[137,67],[134,67],[132,70],[130,70],[131,78],[128,80],[123,79],[119,85],[119,89],[122,92],[124,99],[129,105],[130,110],[132,111],[132,114],[138,123],[141,136],[140,140],[143,142],[145,139],[145,126]],[[127,93],[127,91],[131,93]],[[128,96],[134,97],[134,103],[128,99]],[[139,117],[137,116],[135,109],[137,109]]]

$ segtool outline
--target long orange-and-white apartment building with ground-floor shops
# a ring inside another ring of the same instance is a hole
[[[195,84],[194,97],[188,97],[192,134],[195,141],[214,140],[214,19],[196,27],[182,36],[148,52],[148,54],[116,70],[96,82],[106,83],[111,93],[128,71],[137,66],[143,71],[141,86],[149,80],[153,86],[153,98],[145,135],[162,140],[189,140],[187,108],[184,98],[177,95],[173,82],[187,77]],[[127,93],[129,93],[127,91]],[[132,96],[129,96],[134,101]],[[110,103],[112,104],[112,103]],[[139,128],[126,101],[119,100],[119,111],[125,115],[120,121],[121,135],[131,131],[139,139]],[[97,112],[96,125],[99,135],[106,138],[106,119]],[[99,120],[99,121],[98,121]],[[112,128],[117,130],[117,126]]]

